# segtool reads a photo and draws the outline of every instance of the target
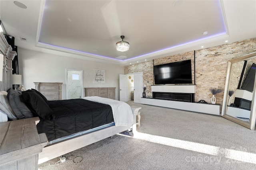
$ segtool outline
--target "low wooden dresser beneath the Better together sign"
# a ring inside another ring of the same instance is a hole
[[[84,88],[85,97],[99,96],[102,98],[109,98],[116,100],[116,88],[115,87],[102,87],[102,88]]]

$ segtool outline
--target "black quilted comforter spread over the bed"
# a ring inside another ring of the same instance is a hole
[[[114,121],[109,105],[84,99],[48,101],[55,118],[36,125],[38,133],[46,133],[48,141],[85,131]]]

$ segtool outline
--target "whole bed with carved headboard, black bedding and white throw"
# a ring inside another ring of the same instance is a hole
[[[4,41],[2,36],[1,33],[1,41]],[[11,51],[10,45],[5,41],[6,47],[2,45],[1,43],[0,52],[4,54],[5,59],[3,81],[0,82],[1,96],[8,95],[9,102],[21,103],[5,108],[14,111],[13,115],[8,115],[8,119],[16,121],[16,119],[38,117],[35,122],[38,133],[45,133],[48,138],[48,144],[38,154],[38,164],[128,129],[136,131],[136,113],[140,108],[131,108],[124,102],[100,97],[47,101],[34,89],[25,92],[11,89],[7,93],[12,87],[10,61],[16,52]],[[9,64],[5,63],[7,61]],[[122,105],[124,105],[123,109],[121,109]],[[1,107],[1,110],[5,113],[6,110],[3,108]],[[66,129],[58,129],[59,127]]]

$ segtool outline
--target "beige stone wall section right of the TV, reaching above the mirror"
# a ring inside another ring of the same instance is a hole
[[[222,89],[216,94],[216,104],[221,105],[227,74],[227,61],[256,51],[256,38],[224,44],[196,51],[196,94],[195,101],[210,103],[211,88]]]

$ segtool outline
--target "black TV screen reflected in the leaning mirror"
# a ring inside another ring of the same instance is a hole
[[[256,64],[252,63],[252,66],[244,79],[244,84],[242,86],[242,89],[247,90],[249,92],[253,91],[254,86],[254,80],[255,80],[255,71],[256,70]]]

